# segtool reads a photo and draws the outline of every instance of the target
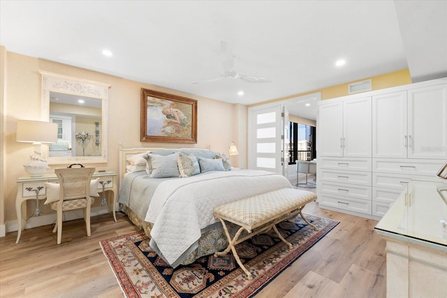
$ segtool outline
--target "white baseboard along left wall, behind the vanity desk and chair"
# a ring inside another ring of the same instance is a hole
[[[97,216],[100,214],[107,214],[107,207],[93,207],[90,211],[90,216]],[[110,216],[112,216],[110,214]],[[84,214],[82,213],[82,209],[76,209],[71,211],[64,211],[64,221],[73,221],[74,219],[84,218]],[[36,228],[42,225],[51,225],[56,222],[56,213],[41,215],[37,217],[31,217],[27,220],[27,225],[25,225],[25,229]],[[5,227],[5,225],[3,225]],[[1,229],[1,226],[0,226]],[[17,219],[14,221],[6,222],[6,232],[15,232],[18,230]],[[1,232],[1,230],[0,230]],[[6,235],[5,228],[3,228],[3,236]]]

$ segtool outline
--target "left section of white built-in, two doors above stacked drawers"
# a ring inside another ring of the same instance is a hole
[[[317,166],[321,207],[372,213],[371,96],[319,105]]]

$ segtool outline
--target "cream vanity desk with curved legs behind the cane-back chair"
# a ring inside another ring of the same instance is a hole
[[[103,190],[112,191],[113,199],[112,202],[107,202],[109,212],[112,211],[113,218],[117,221],[115,215],[115,208],[117,204],[117,173],[116,172],[94,172],[93,178],[98,181],[98,193],[100,194],[99,199],[102,198]],[[27,223],[27,200],[36,200],[36,212],[38,212],[37,201],[46,198],[45,193],[45,182],[57,182],[57,177],[54,173],[43,174],[40,177],[20,177],[16,180],[17,182],[17,196],[15,198],[15,211],[17,212],[17,240],[20,240],[20,234]],[[102,194],[102,195],[101,195]],[[25,202],[25,204],[23,204]],[[24,218],[23,218],[24,216]]]

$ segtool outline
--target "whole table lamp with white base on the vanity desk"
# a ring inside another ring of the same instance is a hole
[[[57,124],[43,121],[19,120],[17,121],[17,142],[34,144],[34,154],[29,156],[31,161],[23,165],[31,177],[42,176],[47,170],[48,163],[41,155],[42,143],[57,142]]]

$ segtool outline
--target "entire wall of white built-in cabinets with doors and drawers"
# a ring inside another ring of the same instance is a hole
[[[447,160],[447,78],[324,100],[317,129],[320,206],[379,219]]]

